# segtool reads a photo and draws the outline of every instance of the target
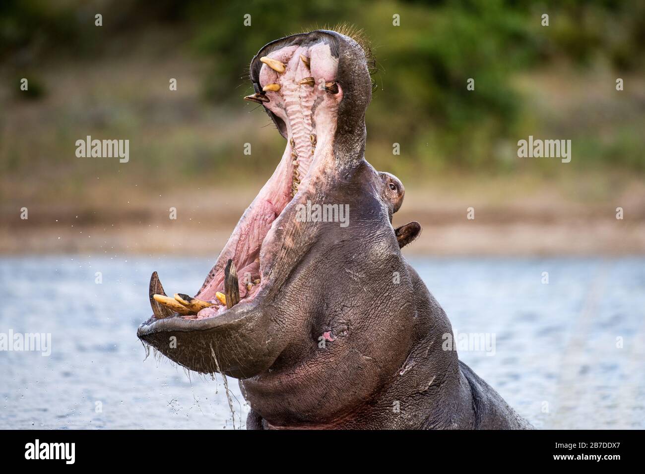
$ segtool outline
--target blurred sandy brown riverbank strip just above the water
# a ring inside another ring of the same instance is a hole
[[[421,237],[406,247],[410,254],[644,254],[645,183],[620,183],[614,188],[604,175],[550,183],[530,176],[442,177],[408,184],[393,224],[421,223]],[[11,200],[0,208],[0,253],[214,258],[261,184],[152,191],[123,181],[87,188],[77,201]],[[28,219],[21,219],[23,207]],[[617,219],[619,207],[623,219]]]

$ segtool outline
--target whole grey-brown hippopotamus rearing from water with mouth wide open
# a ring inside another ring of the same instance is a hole
[[[247,428],[530,428],[444,350],[452,328],[393,228],[404,188],[365,159],[366,49],[331,30],[266,44],[255,93],[286,148],[194,297],[150,281],[138,337],[239,379]]]

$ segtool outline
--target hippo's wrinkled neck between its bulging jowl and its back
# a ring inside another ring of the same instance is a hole
[[[456,351],[442,350],[452,335],[450,322],[417,273],[408,266],[415,293],[415,322],[410,347],[388,382],[361,406],[342,417],[321,422],[259,419],[264,429],[470,428],[470,386],[461,373]],[[242,384],[243,385],[243,384]],[[243,386],[244,390],[244,386]]]

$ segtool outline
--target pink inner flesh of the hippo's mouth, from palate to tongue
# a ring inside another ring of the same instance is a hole
[[[313,192],[307,189],[312,174],[319,173],[333,157],[342,88],[335,81],[338,59],[330,45],[324,41],[306,46],[291,44],[256,57],[252,69],[256,64],[259,73],[254,86],[258,92],[244,99],[263,104],[274,120],[277,117],[281,121],[286,148],[272,177],[242,215],[195,296],[195,304],[204,307],[197,312],[194,305],[183,311],[177,306],[183,304],[181,297],[155,299],[188,319],[218,315],[260,293],[268,279],[271,254],[277,243],[281,244],[268,242],[275,239],[267,235],[289,202]]]

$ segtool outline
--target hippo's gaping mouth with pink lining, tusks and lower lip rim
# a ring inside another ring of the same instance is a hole
[[[139,337],[145,340],[160,330],[210,327],[205,320],[232,313],[219,325],[266,297],[276,253],[284,248],[281,231],[294,224],[288,209],[315,192],[312,182],[324,174],[321,163],[333,157],[343,97],[338,64],[337,40],[324,31],[274,41],[253,58],[250,77],[256,92],[244,99],[262,104],[286,138],[283,157],[235,226],[195,297],[167,296],[153,273],[150,302],[154,315],[141,325]]]

